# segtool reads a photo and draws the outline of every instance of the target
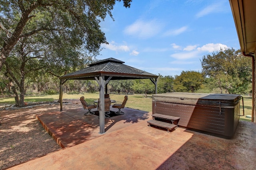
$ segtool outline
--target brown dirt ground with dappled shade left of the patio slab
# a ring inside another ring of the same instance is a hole
[[[58,103],[0,107],[0,170],[61,149],[36,119],[36,114],[59,110]]]

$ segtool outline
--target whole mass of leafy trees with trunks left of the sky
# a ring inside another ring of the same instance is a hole
[[[130,7],[131,0],[122,1]],[[115,2],[0,0],[0,71],[5,64],[2,73],[17,106],[24,105],[30,80],[82,68],[99,53],[107,43],[99,23],[107,14],[112,17]]]

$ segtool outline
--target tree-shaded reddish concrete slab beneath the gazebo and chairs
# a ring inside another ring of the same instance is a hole
[[[117,109],[111,108],[113,111]],[[92,109],[96,111],[97,109]],[[124,108],[123,115],[105,119],[105,133],[110,133],[122,127],[138,123],[150,116],[146,111]],[[73,147],[85,141],[101,136],[99,134],[99,118],[97,115],[84,115],[86,110],[65,109],[62,112],[44,113],[36,115],[44,129],[54,138],[62,148]],[[151,114],[152,115],[152,114]]]

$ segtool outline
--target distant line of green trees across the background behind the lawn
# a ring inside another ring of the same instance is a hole
[[[158,92],[200,92],[248,95],[252,92],[251,59],[240,51],[225,49],[202,57],[202,72],[182,71],[176,76],[158,75]],[[14,84],[1,75],[1,94],[12,94]],[[68,80],[63,85],[67,94],[98,92],[95,80]],[[27,78],[26,94],[58,94],[59,79],[51,74]],[[111,80],[108,92],[111,94],[154,94],[154,84],[148,79]]]

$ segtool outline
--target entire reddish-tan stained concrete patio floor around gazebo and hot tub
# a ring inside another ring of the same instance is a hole
[[[177,128],[171,133],[148,127],[151,112],[125,108],[105,119],[99,134],[96,115],[82,107],[37,115],[65,149],[10,169],[237,169],[256,167],[256,123],[240,121],[232,139]]]

